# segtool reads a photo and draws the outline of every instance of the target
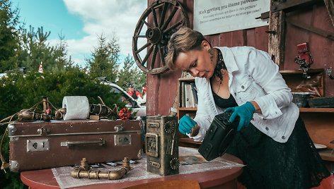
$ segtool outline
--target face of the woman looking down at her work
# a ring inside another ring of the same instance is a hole
[[[202,49],[181,52],[175,61],[176,68],[188,71],[190,75],[199,78],[211,78],[214,74],[214,63],[211,62],[211,49],[207,41],[203,41]]]

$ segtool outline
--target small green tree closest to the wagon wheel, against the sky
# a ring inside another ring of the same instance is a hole
[[[137,68],[132,56],[129,55],[124,60],[123,68],[118,72],[116,84],[127,90],[128,83],[132,83],[134,90],[139,92],[142,92],[142,87],[146,85],[146,73]]]

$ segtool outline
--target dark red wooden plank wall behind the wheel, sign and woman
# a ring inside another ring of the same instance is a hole
[[[148,0],[151,5],[153,0]],[[188,12],[190,28],[192,28],[193,19],[193,0],[180,1]],[[293,18],[303,23],[307,23],[316,28],[334,32],[333,24],[325,4],[319,3],[303,10],[296,9],[287,13],[287,17]],[[173,18],[171,23],[178,18]],[[284,63],[281,63],[280,69],[298,69],[299,65],[294,63],[294,57],[297,56],[296,44],[309,42],[313,64],[311,68],[324,68],[326,63],[328,67],[333,67],[334,75],[334,42],[320,35],[307,32],[292,25],[286,25],[286,40],[284,50]],[[233,32],[224,32],[216,35],[206,36],[213,46],[252,46],[257,49],[268,51],[268,36],[265,31],[268,26],[252,28],[247,30],[237,30]],[[147,102],[146,111],[148,116],[169,115],[171,106],[177,92],[178,78],[181,71],[168,71],[160,75],[147,75]],[[334,80],[325,77],[325,97],[334,96]]]

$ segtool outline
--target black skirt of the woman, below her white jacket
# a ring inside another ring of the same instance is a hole
[[[226,153],[246,165],[238,181],[248,189],[312,188],[330,176],[301,118],[285,143],[272,140],[250,123],[236,133]]]

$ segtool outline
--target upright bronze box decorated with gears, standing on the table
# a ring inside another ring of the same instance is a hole
[[[147,116],[147,171],[168,176],[178,173],[178,117]]]

